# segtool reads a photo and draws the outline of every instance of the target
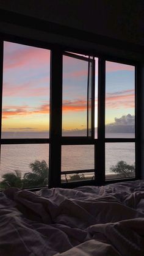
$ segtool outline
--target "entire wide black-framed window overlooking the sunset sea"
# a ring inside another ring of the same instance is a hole
[[[137,178],[135,64],[4,42],[0,187]]]

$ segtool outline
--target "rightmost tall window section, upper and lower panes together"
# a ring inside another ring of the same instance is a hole
[[[106,61],[105,124],[109,138],[106,180],[135,177],[135,67],[132,65]]]

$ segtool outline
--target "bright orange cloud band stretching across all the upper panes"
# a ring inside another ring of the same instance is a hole
[[[95,101],[97,104],[97,100]],[[106,94],[106,108],[134,108],[135,95],[134,90],[125,90],[115,93]],[[87,110],[87,100],[63,100],[63,112],[79,112]],[[19,115],[33,115],[33,114],[49,114],[49,103],[43,103],[37,108],[31,106],[5,106],[2,109],[2,119],[10,116]]]

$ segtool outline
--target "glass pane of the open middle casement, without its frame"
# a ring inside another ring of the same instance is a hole
[[[87,87],[88,58],[63,56],[63,136],[87,136]]]

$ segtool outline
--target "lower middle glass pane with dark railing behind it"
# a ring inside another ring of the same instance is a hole
[[[94,145],[62,146],[62,182],[92,180],[94,168]]]

